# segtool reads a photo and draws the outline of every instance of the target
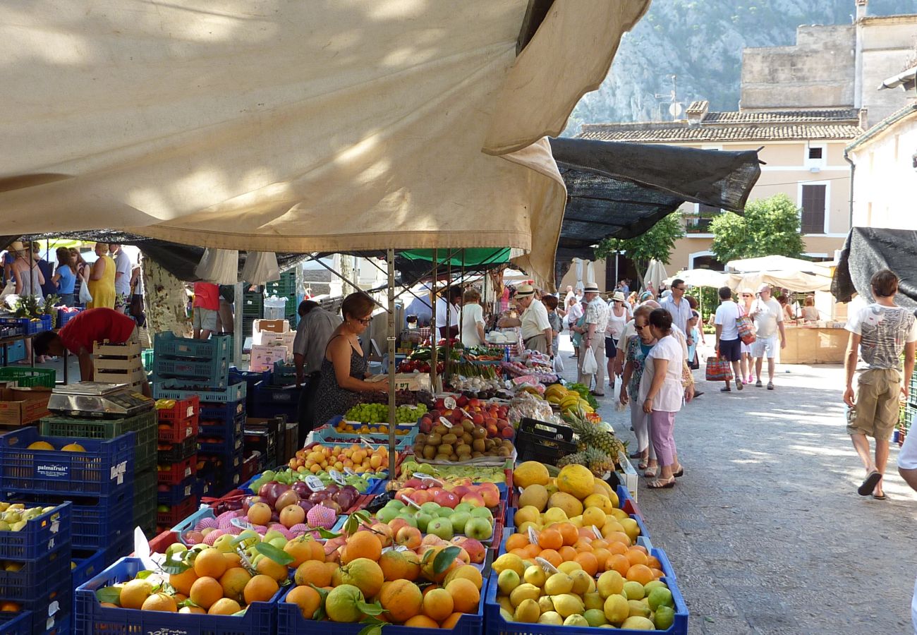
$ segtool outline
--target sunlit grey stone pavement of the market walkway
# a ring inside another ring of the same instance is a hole
[[[695,371],[705,394],[675,426],[685,476],[666,490],[646,489],[641,476],[638,492],[688,602],[690,633],[913,632],[917,494],[898,475],[894,444],[888,499],[856,494],[865,474],[845,433],[843,372],[779,365],[776,390],[721,394],[723,384]],[[635,447],[605,392],[602,415]]]

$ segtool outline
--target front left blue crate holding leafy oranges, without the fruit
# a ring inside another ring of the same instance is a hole
[[[76,590],[76,633],[109,635],[127,633],[182,633],[182,635],[272,635],[276,630],[277,599],[279,591],[270,602],[252,602],[245,614],[239,617],[222,615],[192,615],[160,613],[132,608],[106,608],[99,606],[95,591],[103,586],[133,579],[143,565],[137,558],[122,558]]]

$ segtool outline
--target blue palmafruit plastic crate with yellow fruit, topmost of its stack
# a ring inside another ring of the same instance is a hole
[[[39,440],[62,448],[72,439],[41,437],[22,428],[0,436],[0,485],[20,493],[107,496],[134,484],[136,435],[115,439],[80,439],[84,452],[28,450]]]

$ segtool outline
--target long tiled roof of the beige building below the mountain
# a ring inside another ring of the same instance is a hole
[[[691,106],[694,106],[693,104]],[[780,141],[849,140],[863,133],[854,108],[705,113],[699,123],[666,121],[584,124],[578,138],[603,141]]]

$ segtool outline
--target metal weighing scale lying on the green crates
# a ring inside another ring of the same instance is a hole
[[[48,409],[69,417],[125,418],[152,410],[148,396],[134,392],[127,384],[80,382],[61,385],[51,391]]]

